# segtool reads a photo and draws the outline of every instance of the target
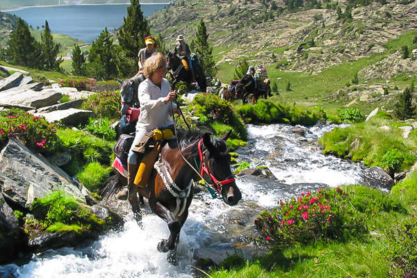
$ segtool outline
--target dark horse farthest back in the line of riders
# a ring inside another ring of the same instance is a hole
[[[236,99],[242,99],[243,104],[246,104],[247,97],[253,94],[252,104],[255,104],[259,97],[267,99],[271,96],[270,79],[265,79],[263,81],[257,80],[255,88],[254,78],[246,74],[236,84],[235,92]]]

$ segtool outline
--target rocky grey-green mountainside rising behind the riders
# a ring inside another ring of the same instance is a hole
[[[171,5],[151,15],[151,27],[174,44],[179,33],[183,33],[186,40],[192,39],[197,21],[203,18],[219,65],[236,65],[238,60],[246,58],[278,69],[317,74],[333,65],[386,53],[386,43],[407,31],[417,36],[416,1],[357,6],[352,8],[349,19],[338,19],[336,6],[320,2],[314,8],[299,8],[293,12],[288,11],[282,1],[178,3],[182,5]],[[344,12],[346,3],[338,2],[338,5]],[[417,48],[417,44],[414,46]],[[377,69],[366,69],[368,74],[363,74],[367,78],[386,79],[415,72],[416,62],[400,61],[399,51],[386,53]],[[393,60],[402,65],[393,70],[394,65],[390,64]]]

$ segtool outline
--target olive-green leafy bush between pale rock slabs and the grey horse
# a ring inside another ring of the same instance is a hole
[[[120,92],[98,92],[88,97],[81,106],[83,109],[94,111],[96,117],[120,118]]]

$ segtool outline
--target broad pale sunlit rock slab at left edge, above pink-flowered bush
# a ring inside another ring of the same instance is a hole
[[[39,92],[34,90],[26,90],[19,94],[2,96],[2,102],[6,104],[17,104],[22,106],[31,106],[40,108],[51,106],[58,102],[63,95],[56,90],[45,89]]]

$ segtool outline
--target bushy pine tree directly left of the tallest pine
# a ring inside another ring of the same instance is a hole
[[[113,39],[107,27],[92,42],[88,55],[87,73],[96,79],[112,79],[117,76],[116,53]]]

